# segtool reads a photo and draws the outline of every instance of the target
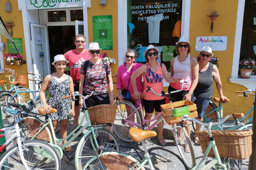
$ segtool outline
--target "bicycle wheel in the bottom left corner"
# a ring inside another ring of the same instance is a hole
[[[55,149],[43,141],[22,143],[23,156],[30,169],[60,169],[60,158]],[[39,165],[44,158],[47,160]],[[18,145],[7,150],[0,160],[0,169],[25,169],[21,162]]]

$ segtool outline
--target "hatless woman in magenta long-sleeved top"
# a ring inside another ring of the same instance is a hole
[[[134,49],[129,49],[125,55],[125,63],[120,65],[117,71],[117,80],[116,80],[116,88],[118,91],[118,100],[123,100],[125,97],[122,95],[122,89],[126,89],[130,92],[130,98],[133,94],[131,75],[135,72],[135,70],[139,69],[139,67],[143,65],[141,63],[136,63],[136,52]],[[130,81],[129,81],[130,80]],[[137,89],[139,92],[143,92],[143,82],[142,75],[136,78]],[[138,104],[138,99],[135,100]],[[141,100],[143,105],[143,100]],[[127,113],[129,113],[129,108],[127,107]],[[139,111],[140,112],[140,111]],[[129,114],[128,114],[129,115]],[[131,118],[131,121],[134,121],[134,117]]]

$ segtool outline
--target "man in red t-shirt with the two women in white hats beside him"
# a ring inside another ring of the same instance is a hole
[[[57,113],[52,113],[49,116],[53,121],[54,130],[60,121],[62,139],[67,137],[69,115],[74,117],[75,128],[77,128],[80,107],[84,106],[83,98],[80,96],[71,102],[70,99],[62,99],[63,96],[73,95],[74,91],[79,91],[83,96],[90,95],[90,87],[94,87],[93,96],[85,101],[87,107],[114,103],[110,63],[99,58],[101,50],[99,44],[90,43],[87,50],[85,49],[85,37],[77,35],[75,45],[76,49],[54,57],[52,65],[56,68],[56,72],[45,77],[40,90],[44,111],[50,113],[50,108],[58,110]],[[67,64],[70,76],[64,72]],[[45,98],[46,90],[49,95],[48,99]],[[108,94],[108,90],[110,94]],[[67,140],[63,140],[62,145],[66,142]],[[73,151],[69,146],[64,150]]]

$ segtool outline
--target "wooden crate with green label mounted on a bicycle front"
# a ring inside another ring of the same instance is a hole
[[[183,115],[189,115],[189,117],[198,117],[196,104],[189,100],[181,100],[174,103],[161,105],[161,110],[167,123],[173,120],[180,120]]]

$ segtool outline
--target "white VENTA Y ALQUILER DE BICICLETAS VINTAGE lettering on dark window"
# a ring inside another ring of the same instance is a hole
[[[177,13],[179,8],[178,2],[158,2],[149,4],[132,5],[133,17],[138,16],[138,21],[147,21],[155,17],[156,14],[163,14],[164,20],[169,20],[168,13]],[[164,15],[165,14],[165,15]]]

